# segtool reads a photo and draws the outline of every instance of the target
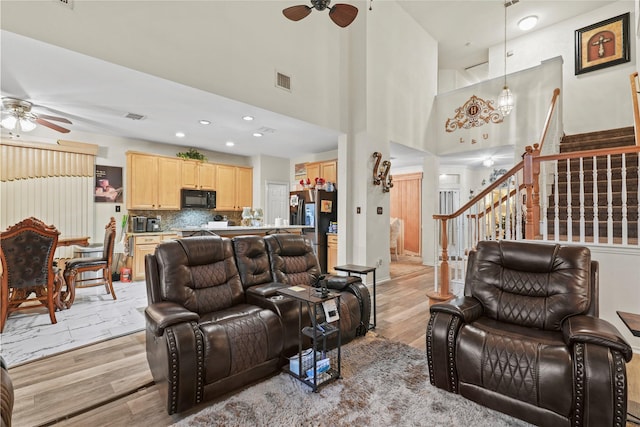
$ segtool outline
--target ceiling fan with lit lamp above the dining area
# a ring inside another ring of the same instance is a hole
[[[33,104],[16,98],[2,98],[2,119],[0,125],[10,131],[29,132],[35,129],[36,123],[58,132],[68,133],[69,129],[63,128],[49,120],[72,124],[63,117],[49,116],[47,114],[35,114],[31,112]]]

